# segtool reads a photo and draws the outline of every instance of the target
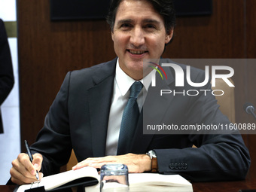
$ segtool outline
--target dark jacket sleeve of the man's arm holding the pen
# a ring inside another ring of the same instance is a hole
[[[68,163],[72,151],[68,112],[70,74],[66,75],[45,117],[44,127],[38,133],[36,142],[31,145],[33,154],[43,155],[41,172],[44,175],[59,172],[60,166]]]

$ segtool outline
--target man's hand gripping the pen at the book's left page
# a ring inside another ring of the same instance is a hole
[[[28,184],[37,181],[35,178],[35,172],[40,171],[43,157],[41,154],[33,155],[33,162],[29,160],[29,155],[19,154],[16,160],[12,164],[10,170],[11,181],[16,184]],[[39,178],[43,177],[43,173],[39,173]]]

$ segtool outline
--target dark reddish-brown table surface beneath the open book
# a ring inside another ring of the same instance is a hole
[[[256,190],[256,178],[246,178],[245,181],[221,181],[221,182],[193,182],[194,192],[238,192],[240,189]],[[14,185],[0,185],[1,192],[13,192]]]

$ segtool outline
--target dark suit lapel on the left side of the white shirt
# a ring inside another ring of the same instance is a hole
[[[93,157],[105,156],[108,116],[114,84],[116,59],[102,66],[93,75],[95,86],[88,90]]]

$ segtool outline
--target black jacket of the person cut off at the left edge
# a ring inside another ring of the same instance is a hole
[[[0,19],[0,106],[14,87],[14,73],[11,62],[11,53],[4,22]],[[3,133],[0,108],[0,133]]]

